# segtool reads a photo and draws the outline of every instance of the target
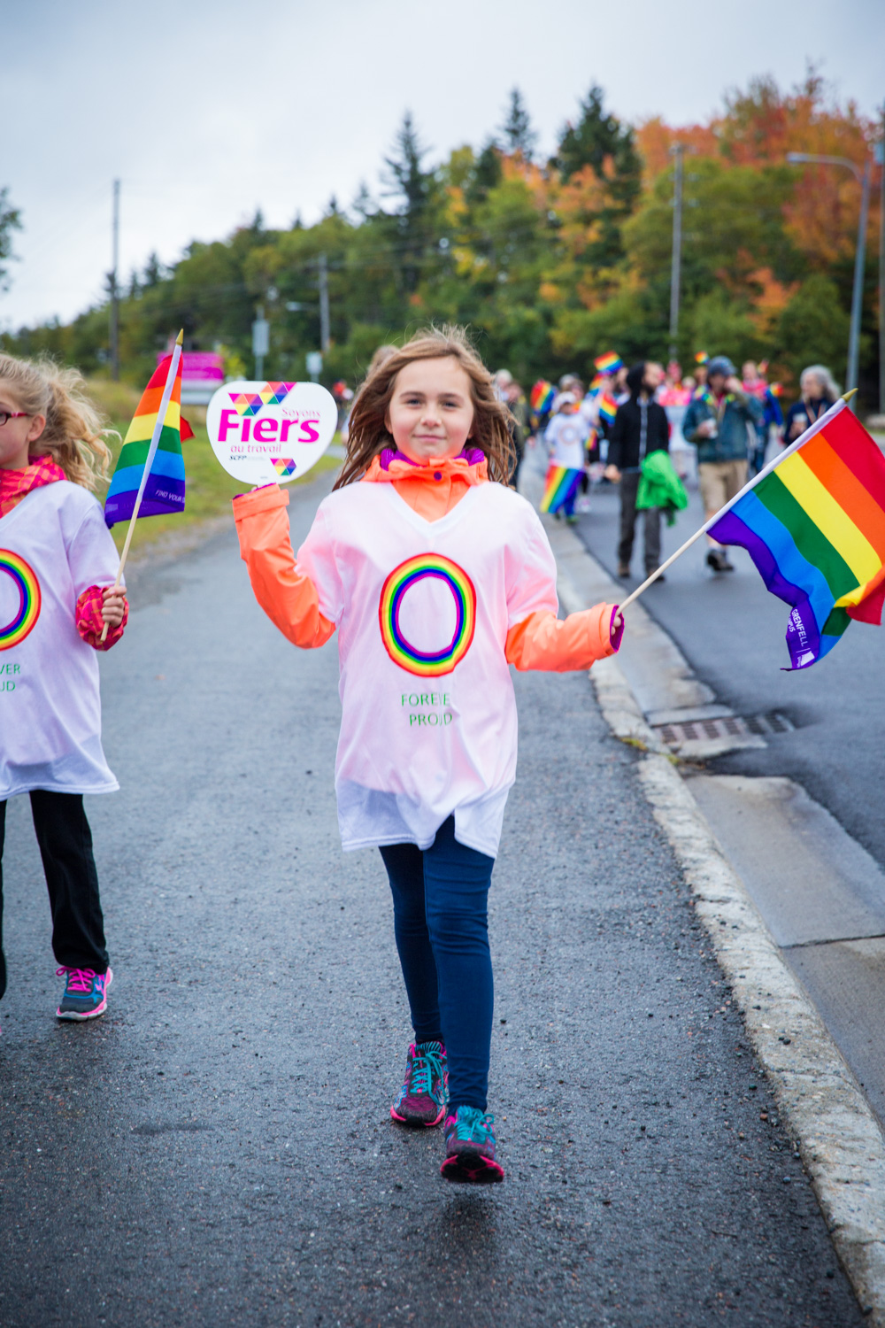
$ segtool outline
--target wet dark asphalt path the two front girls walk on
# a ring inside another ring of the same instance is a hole
[[[378,855],[338,847],[334,645],[275,632],[232,534],[130,592],[102,663],[122,791],[89,806],[115,971],[94,1024],[54,1021],[9,809],[3,1328],[865,1321],[585,676],[517,680],[491,922],[507,1181],[452,1187],[439,1131],[387,1114],[409,1025]]]

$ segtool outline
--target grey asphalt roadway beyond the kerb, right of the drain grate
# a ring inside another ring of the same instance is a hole
[[[579,534],[586,548],[617,572],[618,493],[604,485],[592,497]],[[674,552],[703,523],[701,501],[663,527],[662,558]],[[642,576],[641,523],[633,552],[633,590]],[[702,547],[703,546],[703,547]],[[705,566],[706,540],[698,540],[642,596],[645,608],[677,641],[695,675],[736,714],[778,710],[795,724],[792,733],[768,740],[766,749],[735,752],[709,762],[723,774],[782,774],[801,784],[817,802],[885,867],[882,817],[882,732],[885,706],[885,631],[852,623],[835,649],[809,669],[789,665],[784,635],[789,608],[770,595],[750,555],[730,550],[736,571],[716,575]]]

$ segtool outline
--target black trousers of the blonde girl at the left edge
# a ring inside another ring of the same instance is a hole
[[[31,794],[31,814],[37,831],[42,870],[52,910],[52,950],[65,968],[107,972],[105,919],[98,898],[98,874],[92,851],[92,831],[78,793]],[[7,989],[3,957],[3,841],[7,805],[0,802],[0,996]]]

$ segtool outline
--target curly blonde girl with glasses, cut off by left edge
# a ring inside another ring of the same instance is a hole
[[[7,798],[29,793],[65,977],[58,1019],[102,1015],[113,976],[82,795],[119,788],[101,749],[94,652],[119,640],[129,612],[89,491],[110,453],[80,384],[0,355],[0,996]]]

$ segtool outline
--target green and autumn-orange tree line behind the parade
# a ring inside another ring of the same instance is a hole
[[[429,320],[468,324],[492,368],[528,382],[616,349],[663,359],[669,345],[671,147],[685,147],[683,364],[698,351],[767,359],[788,385],[809,363],[845,372],[860,189],[851,173],[789,166],[788,151],[862,166],[877,126],[840,105],[812,70],[782,90],[756,78],[705,124],[655,118],[632,126],[592,86],[548,159],[517,89],[499,130],[434,162],[406,114],[379,173],[312,226],[265,226],[260,212],[226,239],[194,242],[163,266],[133,272],[119,305],[125,378],[139,384],[170,332],[218,349],[251,373],[251,325],[271,324],[264,373],[305,376],[320,348],[318,279],[328,271],[330,345],[324,381],[358,380],[382,341]],[[0,259],[15,208],[0,195]],[[877,230],[870,215],[861,394],[876,400]],[[46,351],[86,373],[107,372],[107,300],[70,323],[3,336],[13,353]]]

